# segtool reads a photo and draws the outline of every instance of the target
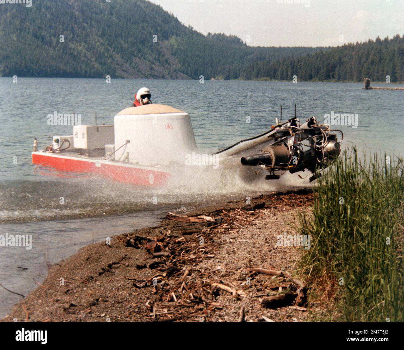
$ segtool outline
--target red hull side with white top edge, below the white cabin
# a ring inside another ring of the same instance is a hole
[[[32,163],[63,171],[95,173],[106,178],[139,186],[165,185],[170,172],[131,164],[80,159],[55,153],[33,152]]]

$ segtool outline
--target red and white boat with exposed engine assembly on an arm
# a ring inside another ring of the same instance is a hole
[[[341,135],[341,140],[338,136]],[[164,186],[187,165],[233,171],[243,180],[277,180],[286,172],[311,172],[310,181],[336,159],[343,134],[311,117],[278,121],[255,137],[219,152],[198,154],[188,113],[163,104],[129,107],[113,125],[73,125],[73,134],[53,136],[32,163],[63,172],[98,174],[138,186]]]

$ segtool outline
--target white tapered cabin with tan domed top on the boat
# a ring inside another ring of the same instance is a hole
[[[114,125],[115,160],[148,166],[184,164],[185,155],[196,150],[189,114],[170,106],[126,108],[114,117]]]

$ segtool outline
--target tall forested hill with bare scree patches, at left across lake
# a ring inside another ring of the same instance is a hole
[[[32,7],[0,8],[0,76],[232,79],[246,64],[319,49],[248,47],[236,36],[204,36],[145,0],[36,0]]]

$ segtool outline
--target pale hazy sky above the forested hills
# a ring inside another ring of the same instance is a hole
[[[252,46],[337,46],[404,34],[404,0],[150,1],[198,32],[235,34]]]

